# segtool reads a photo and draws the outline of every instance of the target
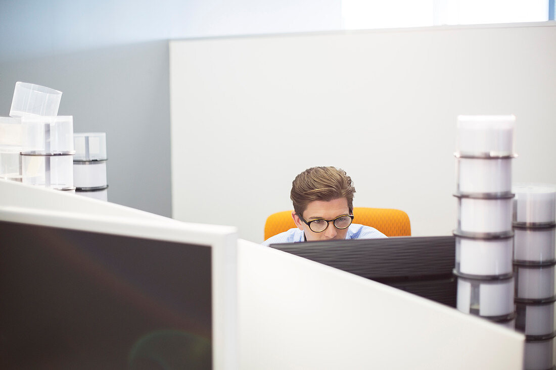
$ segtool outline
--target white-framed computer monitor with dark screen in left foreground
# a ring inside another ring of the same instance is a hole
[[[235,228],[52,194],[81,212],[0,197],[0,368],[237,368]]]

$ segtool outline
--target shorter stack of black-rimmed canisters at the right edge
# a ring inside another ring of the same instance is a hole
[[[556,189],[516,184],[514,201],[515,328],[525,333],[525,370],[554,366]]]

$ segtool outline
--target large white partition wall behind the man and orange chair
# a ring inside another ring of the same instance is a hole
[[[344,168],[355,206],[454,229],[458,114],[515,114],[517,182],[556,183],[556,23],[170,42],[172,214],[260,242],[295,175]]]

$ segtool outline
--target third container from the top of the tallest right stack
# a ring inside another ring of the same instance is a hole
[[[511,195],[513,197],[513,194]],[[464,233],[512,231],[512,198],[458,197],[458,229]]]

